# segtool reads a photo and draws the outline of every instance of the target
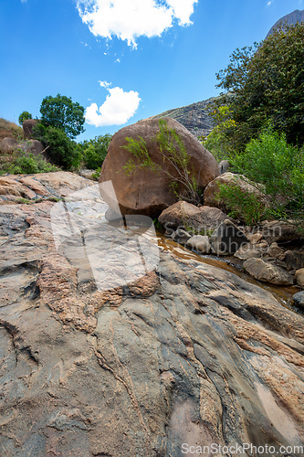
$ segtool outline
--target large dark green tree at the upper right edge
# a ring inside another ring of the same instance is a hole
[[[288,143],[304,143],[304,23],[278,27],[260,44],[237,48],[216,77],[225,90],[217,105],[227,105],[236,122],[227,132],[236,150],[244,150],[267,122]]]

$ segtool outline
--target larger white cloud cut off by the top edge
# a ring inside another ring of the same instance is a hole
[[[116,36],[136,48],[136,38],[160,37],[173,27],[191,24],[198,0],[78,0],[79,16],[96,37]]]

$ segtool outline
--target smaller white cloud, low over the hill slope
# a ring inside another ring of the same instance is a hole
[[[98,107],[97,103],[91,103],[85,113],[86,122],[95,127],[106,125],[122,125],[136,112],[140,104],[138,92],[123,91],[120,87],[110,88],[110,83],[100,81],[100,86],[108,90],[106,101]]]

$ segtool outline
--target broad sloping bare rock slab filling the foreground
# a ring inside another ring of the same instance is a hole
[[[78,175],[0,189],[1,454],[299,456],[303,316],[109,223]]]

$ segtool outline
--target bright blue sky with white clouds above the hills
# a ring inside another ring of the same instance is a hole
[[[77,141],[219,93],[235,48],[304,0],[0,0],[0,117],[60,93],[86,108]]]

